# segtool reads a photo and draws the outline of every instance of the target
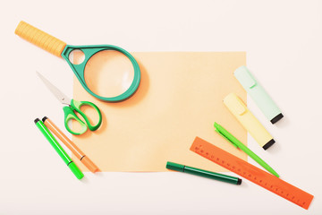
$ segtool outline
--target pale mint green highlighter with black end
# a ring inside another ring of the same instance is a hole
[[[242,65],[233,74],[272,124],[283,118],[281,110],[275,105],[273,99],[269,97],[246,66]]]

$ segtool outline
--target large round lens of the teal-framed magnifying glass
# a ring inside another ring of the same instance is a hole
[[[84,78],[89,90],[98,96],[113,98],[130,88],[134,68],[131,60],[123,53],[104,50],[89,58]]]

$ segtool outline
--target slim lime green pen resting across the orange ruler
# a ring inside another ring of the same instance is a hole
[[[254,159],[263,168],[266,168],[268,172],[272,173],[276,177],[279,177],[278,174],[275,172],[275,170],[273,168],[269,167],[268,164],[264,160],[260,159],[247,146],[245,146],[244,144],[242,144],[242,142],[240,142],[237,138],[235,138],[232,133],[229,133],[227,130],[225,130],[224,127],[222,127],[221,125],[219,125],[217,123],[215,123],[214,126],[216,128],[216,130],[215,130],[216,133],[219,133],[228,142],[231,142],[234,147],[239,148],[242,151],[244,151],[246,154],[248,154],[251,159]]]

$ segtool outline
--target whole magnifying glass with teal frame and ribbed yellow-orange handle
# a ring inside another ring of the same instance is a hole
[[[122,47],[113,45],[71,46],[21,21],[15,34],[55,56],[63,57],[82,87],[97,99],[117,102],[128,99],[140,84],[140,66]]]

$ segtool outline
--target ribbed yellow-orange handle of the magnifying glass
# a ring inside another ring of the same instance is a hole
[[[42,30],[38,30],[27,22],[21,21],[14,33],[55,56],[62,57],[62,52],[64,47],[66,47],[66,43],[62,40],[56,39]]]

